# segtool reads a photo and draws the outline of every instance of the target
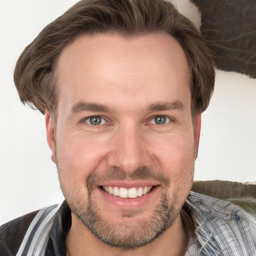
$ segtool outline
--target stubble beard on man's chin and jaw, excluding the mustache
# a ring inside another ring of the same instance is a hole
[[[100,215],[91,196],[88,195],[88,203],[84,208],[77,205],[69,205],[78,219],[101,241],[122,249],[133,249],[143,246],[162,232],[168,229],[174,222],[179,212],[174,211],[167,199],[166,193],[156,205],[150,220],[138,221],[134,224],[133,212],[126,210],[122,213],[122,220],[110,223],[108,219]],[[129,221],[132,220],[132,221]]]

